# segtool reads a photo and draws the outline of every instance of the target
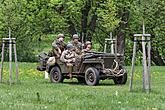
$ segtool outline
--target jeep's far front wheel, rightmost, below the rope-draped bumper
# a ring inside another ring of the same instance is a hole
[[[123,76],[114,78],[113,81],[115,84],[125,84],[127,82],[127,73],[124,73]]]

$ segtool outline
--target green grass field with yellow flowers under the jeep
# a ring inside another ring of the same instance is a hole
[[[152,91],[142,91],[141,67],[136,67],[134,91],[113,81],[101,81],[91,87],[65,80],[52,84],[44,73],[35,70],[35,63],[20,63],[20,82],[8,83],[8,64],[0,84],[0,110],[164,110],[165,67],[152,67]],[[130,76],[130,67],[127,67]]]

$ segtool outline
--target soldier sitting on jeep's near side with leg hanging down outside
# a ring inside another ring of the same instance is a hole
[[[69,43],[66,46],[66,48],[67,49],[62,52],[60,60],[64,63],[66,63],[69,77],[70,77],[70,79],[72,79],[72,69],[73,69],[73,65],[75,63],[75,58],[76,58],[77,54],[75,53],[75,51],[73,51],[74,46],[71,43]]]

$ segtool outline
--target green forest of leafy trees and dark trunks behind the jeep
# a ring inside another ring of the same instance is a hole
[[[0,38],[8,37],[11,28],[21,62],[37,61],[45,43],[51,49],[59,33],[67,40],[76,33],[82,42],[90,40],[96,51],[103,51],[112,32],[118,53],[130,65],[133,34],[142,33],[143,21],[146,33],[152,35],[152,65],[165,66],[164,0],[0,0]],[[138,43],[137,65],[141,51]]]

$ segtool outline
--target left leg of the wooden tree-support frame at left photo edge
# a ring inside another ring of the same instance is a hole
[[[1,65],[0,65],[0,82],[2,82],[2,77],[3,77],[4,48],[5,48],[5,42],[3,40],[3,42],[2,42]]]

